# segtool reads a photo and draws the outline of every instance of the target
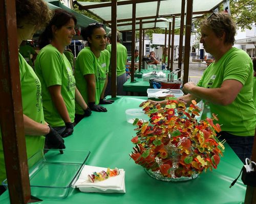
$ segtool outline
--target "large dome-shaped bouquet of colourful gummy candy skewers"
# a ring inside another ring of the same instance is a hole
[[[165,107],[146,102],[142,107],[150,119],[135,119],[136,136],[131,140],[130,157],[136,164],[161,176],[190,177],[203,170],[217,168],[223,156],[224,142],[216,137],[221,131],[218,118],[196,120],[201,109],[195,100],[186,108],[177,100],[168,100]]]

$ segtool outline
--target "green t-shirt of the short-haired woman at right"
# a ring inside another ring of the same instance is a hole
[[[236,47],[232,47],[217,63],[211,63],[204,71],[198,82],[200,87],[219,88],[223,81],[231,79],[244,85],[236,99],[228,106],[206,101],[211,113],[218,114],[218,123],[223,124],[222,131],[237,136],[254,135],[256,115],[252,99],[252,78],[253,69],[250,57],[242,49]]]

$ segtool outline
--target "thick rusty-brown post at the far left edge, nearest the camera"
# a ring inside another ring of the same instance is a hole
[[[0,2],[0,125],[10,203],[28,203],[31,197],[20,90],[15,1]]]

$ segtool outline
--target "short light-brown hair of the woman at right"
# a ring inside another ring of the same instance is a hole
[[[200,27],[211,29],[217,37],[221,37],[225,32],[224,42],[234,44],[237,26],[228,13],[213,13],[200,23]]]

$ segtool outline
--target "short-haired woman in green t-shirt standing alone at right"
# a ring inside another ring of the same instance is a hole
[[[221,140],[236,152],[242,162],[250,158],[256,125],[252,99],[252,61],[242,49],[232,47],[236,24],[227,13],[217,13],[201,22],[204,49],[215,58],[201,80],[184,84],[187,104],[202,99],[211,113],[218,115]],[[164,102],[163,102],[164,103]],[[207,110],[205,108],[205,110]],[[205,117],[203,115],[202,117]]]

